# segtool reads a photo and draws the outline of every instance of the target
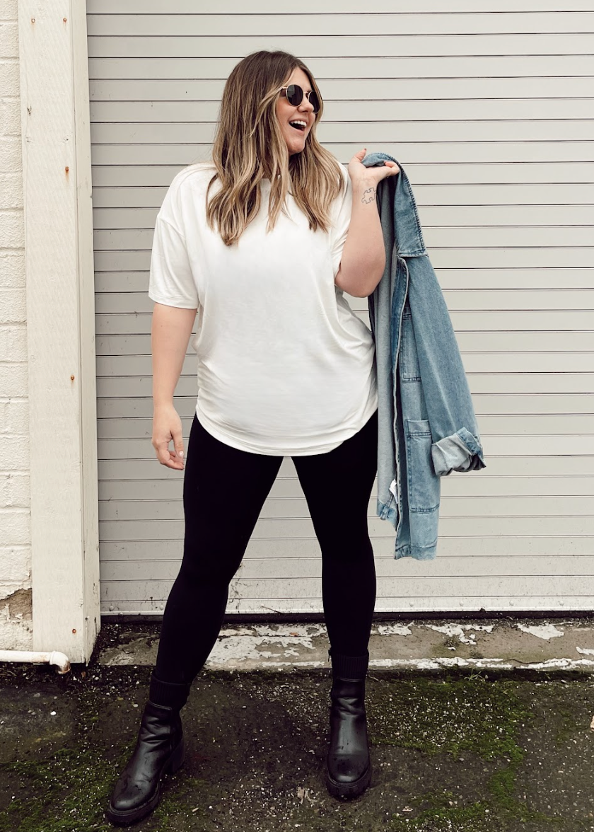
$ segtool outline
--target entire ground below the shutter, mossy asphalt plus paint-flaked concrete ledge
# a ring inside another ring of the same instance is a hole
[[[107,624],[87,667],[0,666],[1,832],[110,830],[158,624]],[[324,627],[226,625],[182,711],[186,762],[154,832],[594,830],[594,621],[378,622],[367,712],[373,775],[350,802],[323,780]]]

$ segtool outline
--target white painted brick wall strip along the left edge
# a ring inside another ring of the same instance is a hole
[[[0,648],[30,650],[27,304],[17,0],[0,0]]]

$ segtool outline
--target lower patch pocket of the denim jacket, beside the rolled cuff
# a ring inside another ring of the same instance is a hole
[[[439,508],[440,481],[433,470],[429,420],[406,419],[408,506],[411,512],[434,512]]]

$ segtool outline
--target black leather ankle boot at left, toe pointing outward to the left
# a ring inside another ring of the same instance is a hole
[[[106,810],[112,823],[133,824],[148,815],[159,802],[162,776],[173,774],[183,763],[180,711],[189,693],[190,685],[172,685],[151,678],[136,748],[116,782]],[[151,701],[156,698],[170,704],[157,705]]]

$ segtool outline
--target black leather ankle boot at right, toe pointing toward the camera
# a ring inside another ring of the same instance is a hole
[[[326,786],[330,795],[353,798],[371,780],[371,760],[365,715],[365,676],[369,651],[364,656],[332,657],[330,691],[330,745],[326,760]]]

